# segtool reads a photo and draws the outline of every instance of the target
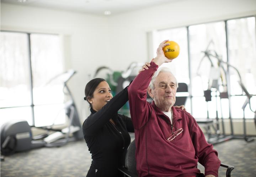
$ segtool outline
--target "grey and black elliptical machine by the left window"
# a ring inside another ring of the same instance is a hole
[[[63,83],[63,92],[70,97],[64,104],[63,109],[68,116],[68,126],[64,129],[53,129],[49,127],[36,127],[46,130],[47,133],[33,137],[31,127],[25,120],[12,120],[1,126],[1,154],[10,155],[15,152],[22,152],[38,147],[60,147],[69,141],[83,138],[82,127],[74,98],[67,86],[68,80],[75,74],[69,70],[52,78],[50,82]],[[64,91],[66,90],[66,92]],[[50,133],[54,131],[54,133]],[[72,135],[70,137],[70,135]],[[2,157],[1,157],[2,159]]]

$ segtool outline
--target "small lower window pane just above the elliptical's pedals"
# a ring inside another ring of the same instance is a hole
[[[65,124],[63,104],[41,105],[34,107],[35,126]]]

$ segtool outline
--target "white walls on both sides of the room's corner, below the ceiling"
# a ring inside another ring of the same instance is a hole
[[[124,70],[154,57],[147,32],[255,14],[255,0],[177,0],[108,17],[1,3],[1,30],[64,36],[66,68],[78,71],[69,85],[81,113],[89,73],[101,65]]]

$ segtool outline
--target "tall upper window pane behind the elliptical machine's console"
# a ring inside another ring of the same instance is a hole
[[[30,39],[34,104],[63,103],[63,83],[49,84],[52,78],[63,73],[60,37],[31,34]]]

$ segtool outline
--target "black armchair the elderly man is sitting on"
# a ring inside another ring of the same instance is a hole
[[[138,173],[136,170],[136,159],[135,159],[135,139],[130,143],[127,153],[126,153],[126,159],[125,159],[125,166],[119,168],[118,170],[121,171],[124,176],[128,177],[138,177]],[[226,170],[226,177],[231,177],[231,171],[235,168],[232,165],[225,165],[220,164],[220,166],[225,167]]]

